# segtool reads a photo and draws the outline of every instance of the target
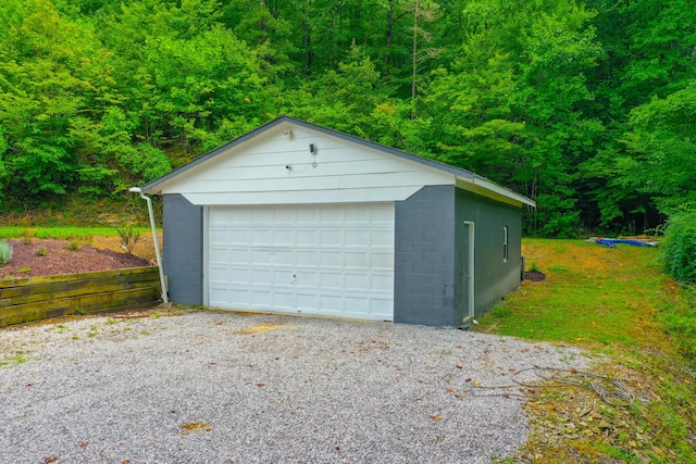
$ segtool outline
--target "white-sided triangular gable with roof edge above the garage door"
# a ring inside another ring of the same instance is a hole
[[[194,204],[282,204],[397,201],[426,185],[457,185],[510,204],[535,205],[469,171],[289,116],[146,184],[142,191],[182,193]]]

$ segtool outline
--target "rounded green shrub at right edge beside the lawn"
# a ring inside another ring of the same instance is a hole
[[[670,217],[661,258],[669,275],[681,283],[696,284],[696,211]]]

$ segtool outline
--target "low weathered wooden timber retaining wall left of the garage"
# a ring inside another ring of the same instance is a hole
[[[161,303],[159,267],[0,280],[0,327]]]

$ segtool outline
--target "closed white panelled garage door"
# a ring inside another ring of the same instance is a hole
[[[394,318],[394,203],[211,206],[208,305]]]

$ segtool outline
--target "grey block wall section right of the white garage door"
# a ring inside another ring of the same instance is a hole
[[[424,187],[395,203],[396,323],[453,325],[455,190]]]

